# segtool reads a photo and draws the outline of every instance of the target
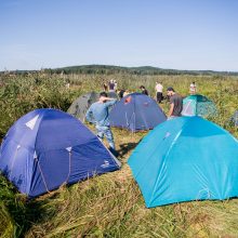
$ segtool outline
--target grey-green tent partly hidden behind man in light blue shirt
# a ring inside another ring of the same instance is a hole
[[[95,92],[81,95],[71,104],[67,113],[76,118],[79,118],[81,121],[84,121],[87,110],[98,98],[100,94]]]

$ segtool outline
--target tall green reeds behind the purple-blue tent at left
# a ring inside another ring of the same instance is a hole
[[[67,110],[72,94],[65,80],[48,76],[4,77],[0,88],[0,136],[23,115],[36,108]]]

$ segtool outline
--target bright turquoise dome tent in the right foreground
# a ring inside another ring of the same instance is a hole
[[[238,141],[200,117],[159,124],[128,163],[147,208],[238,196]]]

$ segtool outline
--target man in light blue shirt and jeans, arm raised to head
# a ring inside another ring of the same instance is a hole
[[[103,140],[104,136],[107,138],[109,144],[109,150],[113,154],[116,154],[115,143],[114,143],[114,135],[110,131],[110,123],[109,123],[109,107],[116,104],[115,98],[107,97],[105,92],[100,94],[100,100],[92,104],[85,114],[85,119],[94,123],[97,131],[97,137]]]

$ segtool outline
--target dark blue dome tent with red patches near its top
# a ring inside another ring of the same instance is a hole
[[[132,132],[154,129],[167,120],[156,101],[142,93],[132,93],[120,100],[109,114],[111,127]]]

